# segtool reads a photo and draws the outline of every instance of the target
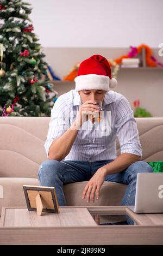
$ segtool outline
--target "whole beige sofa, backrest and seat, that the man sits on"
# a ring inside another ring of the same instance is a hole
[[[163,159],[163,117],[135,118],[145,161]],[[50,117],[0,118],[0,214],[2,206],[26,206],[23,184],[39,185],[37,172],[46,160],[44,143]],[[117,142],[117,153],[120,148]],[[87,205],[81,199],[86,182],[64,186],[67,205]],[[104,182],[93,205],[121,205],[126,185]],[[90,203],[89,205],[92,205]]]

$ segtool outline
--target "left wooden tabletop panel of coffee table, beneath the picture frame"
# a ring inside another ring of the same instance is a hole
[[[86,208],[61,208],[60,213],[43,212],[38,216],[27,207],[3,207],[0,227],[82,227],[97,226]]]

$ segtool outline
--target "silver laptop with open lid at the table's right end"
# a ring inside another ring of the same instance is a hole
[[[137,174],[135,213],[163,213],[163,172]]]

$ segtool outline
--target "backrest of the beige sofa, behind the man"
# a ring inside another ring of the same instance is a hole
[[[135,118],[143,148],[142,160],[163,160],[163,117]],[[0,118],[0,177],[37,178],[47,160],[44,144],[50,117]],[[120,145],[117,140],[117,154]],[[10,159],[10,160],[8,160]]]

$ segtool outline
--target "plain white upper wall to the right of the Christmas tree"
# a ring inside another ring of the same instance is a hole
[[[44,47],[128,47],[163,43],[162,0],[26,0]]]

